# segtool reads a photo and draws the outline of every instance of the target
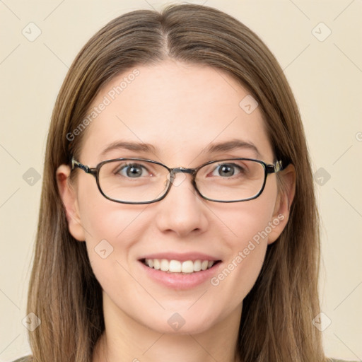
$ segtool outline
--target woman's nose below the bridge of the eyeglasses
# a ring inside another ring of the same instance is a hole
[[[158,229],[179,237],[203,233],[209,226],[207,207],[192,185],[192,175],[175,173],[172,180],[170,191],[157,203]]]

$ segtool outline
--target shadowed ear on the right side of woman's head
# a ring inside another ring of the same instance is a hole
[[[280,171],[279,174],[282,185],[276,199],[273,216],[269,223],[271,232],[268,235],[268,244],[274,243],[286,227],[291,211],[291,204],[296,194],[296,168],[294,168],[294,165],[288,165],[284,170]]]

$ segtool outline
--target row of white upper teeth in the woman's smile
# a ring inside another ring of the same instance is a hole
[[[180,262],[179,260],[168,259],[145,259],[145,264],[156,270],[191,274],[194,271],[210,269],[215,262],[211,260],[186,260],[185,262]]]

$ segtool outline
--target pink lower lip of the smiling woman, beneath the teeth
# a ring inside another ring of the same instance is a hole
[[[156,270],[150,267],[147,267],[143,262],[140,262],[141,267],[144,269],[146,274],[153,280],[157,281],[159,284],[173,289],[191,289],[203,284],[205,281],[209,281],[212,276],[216,274],[218,267],[220,267],[221,262],[218,262],[210,269],[196,271],[190,274],[180,274],[180,273],[168,273],[162,270]]]

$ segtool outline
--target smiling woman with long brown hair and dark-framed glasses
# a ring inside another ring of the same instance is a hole
[[[49,129],[34,361],[327,361],[319,250],[298,108],[257,35],[182,5],[88,41]]]

